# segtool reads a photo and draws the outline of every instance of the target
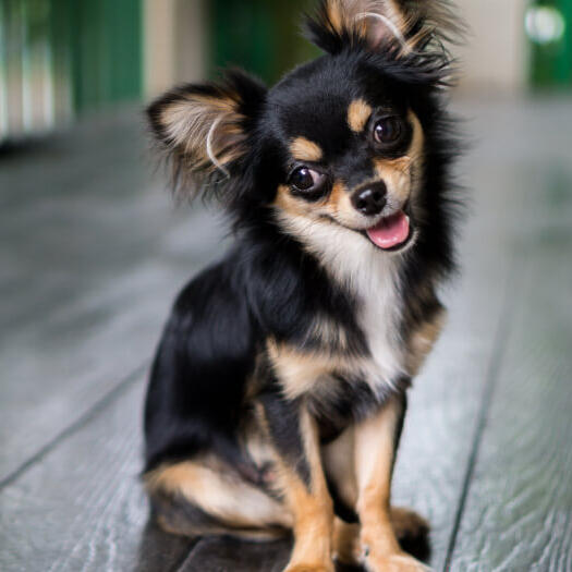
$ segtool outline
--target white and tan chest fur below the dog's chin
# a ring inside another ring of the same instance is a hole
[[[333,239],[328,234],[318,240],[314,233],[308,243],[330,280],[348,296],[346,308],[317,309],[306,349],[270,345],[269,357],[285,395],[305,394],[337,409],[355,388],[366,400],[384,399],[405,372],[405,352],[399,258],[355,232],[338,231]]]

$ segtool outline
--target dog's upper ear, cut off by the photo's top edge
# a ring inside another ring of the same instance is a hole
[[[309,39],[329,53],[348,45],[423,52],[463,33],[449,0],[321,0],[306,22]]]

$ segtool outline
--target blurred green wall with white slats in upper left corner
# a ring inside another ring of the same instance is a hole
[[[142,0],[0,0],[0,139],[138,99]]]

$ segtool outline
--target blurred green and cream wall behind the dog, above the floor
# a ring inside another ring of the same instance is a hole
[[[460,0],[472,27],[462,90],[572,85],[572,0]],[[0,139],[144,100],[228,63],[267,82],[315,51],[312,0],[1,0]]]

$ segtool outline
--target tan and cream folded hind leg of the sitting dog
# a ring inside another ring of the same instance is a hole
[[[230,534],[248,539],[283,536],[292,519],[275,498],[222,463],[185,461],[145,476],[157,522],[173,534]]]

